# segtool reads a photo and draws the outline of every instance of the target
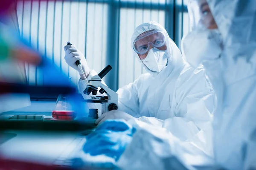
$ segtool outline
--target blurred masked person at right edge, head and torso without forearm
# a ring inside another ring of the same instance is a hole
[[[191,65],[204,65],[218,98],[215,161],[256,169],[256,1],[190,0],[189,16],[183,54]]]

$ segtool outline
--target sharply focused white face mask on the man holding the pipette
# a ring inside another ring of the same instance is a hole
[[[154,47],[148,51],[147,57],[141,61],[149,70],[160,72],[167,65],[167,60],[166,50],[162,51]]]

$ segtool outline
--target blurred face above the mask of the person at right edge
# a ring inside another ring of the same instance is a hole
[[[209,8],[209,5],[206,0],[196,0],[196,6],[198,6],[197,10],[198,11],[198,17],[199,19],[199,24],[202,24],[205,28],[207,29],[217,29],[218,26],[215,23],[215,20],[212,16],[212,12]]]

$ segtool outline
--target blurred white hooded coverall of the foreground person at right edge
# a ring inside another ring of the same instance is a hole
[[[219,59],[203,62],[218,98],[215,160],[228,169],[256,169],[256,1],[208,3],[224,45]]]

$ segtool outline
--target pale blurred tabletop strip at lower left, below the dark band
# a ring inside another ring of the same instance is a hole
[[[5,130],[0,154],[6,159],[32,161],[52,165],[59,158],[67,158],[82,142],[73,132],[45,132],[33,130]]]

